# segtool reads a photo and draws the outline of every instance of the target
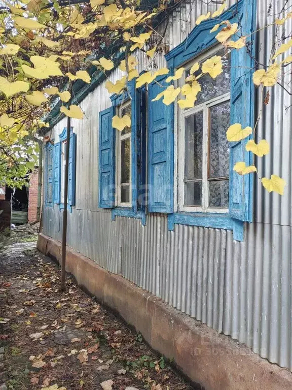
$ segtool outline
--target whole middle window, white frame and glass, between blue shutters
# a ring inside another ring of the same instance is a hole
[[[117,109],[118,115],[131,117],[131,101],[126,102]],[[126,126],[121,132],[117,130],[117,206],[132,206],[132,175],[131,175],[131,127]]]

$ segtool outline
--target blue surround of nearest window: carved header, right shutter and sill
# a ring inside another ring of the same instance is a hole
[[[256,0],[239,0],[220,16],[220,20],[240,23],[241,34],[250,37],[255,29],[255,10]],[[179,68],[218,44],[215,36],[224,25],[213,33],[209,32],[217,23],[218,19],[208,19],[196,26],[185,41],[165,55],[168,68],[171,70]],[[252,127],[254,120],[254,86],[252,83],[254,37],[252,40],[251,44],[250,38],[247,39],[251,55],[247,53],[246,48],[232,50],[231,54],[231,124],[241,123],[243,127]],[[173,137],[171,141],[174,142]],[[230,144],[229,213],[170,213],[168,214],[169,230],[174,230],[176,223],[226,229],[233,231],[235,240],[244,240],[244,222],[252,221],[253,176],[239,176],[233,171],[233,166],[237,161],[245,161],[246,165],[251,164],[251,153],[245,151],[247,141],[248,138]]]

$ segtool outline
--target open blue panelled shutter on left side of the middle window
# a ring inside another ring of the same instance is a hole
[[[115,131],[112,126],[114,107],[99,113],[98,134],[98,207],[115,205]]]

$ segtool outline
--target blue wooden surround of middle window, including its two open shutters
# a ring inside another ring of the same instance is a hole
[[[100,112],[99,121],[99,207],[112,209],[112,220],[116,216],[141,219],[141,223],[146,223],[145,205],[140,202],[143,198],[143,188],[145,188],[145,131],[146,131],[146,112],[141,115],[147,105],[145,88],[135,88],[135,81],[128,83],[128,90],[131,96],[131,199],[132,207],[115,207],[115,197],[113,188],[116,187],[115,166],[116,166],[116,147],[115,132],[112,128],[112,115],[115,115],[116,108],[126,103],[130,96],[128,92],[122,95],[114,94],[111,96],[112,110],[106,109]],[[106,120],[101,118],[105,117]],[[108,117],[108,118],[107,118]],[[142,119],[141,119],[142,118]],[[108,140],[108,141],[107,141]],[[112,140],[112,142],[110,141]],[[109,145],[108,142],[111,142]],[[109,152],[108,152],[109,151]],[[106,153],[106,154],[105,154]],[[102,154],[106,156],[103,159]],[[108,162],[106,162],[108,160]],[[103,165],[102,165],[103,164]],[[108,175],[107,167],[112,169]],[[103,173],[104,172],[104,173]],[[102,179],[104,175],[105,179]],[[109,190],[107,188],[110,188]]]

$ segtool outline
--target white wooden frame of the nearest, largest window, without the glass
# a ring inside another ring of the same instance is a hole
[[[185,67],[185,73],[193,66],[195,62],[201,62],[202,60],[214,55],[222,47],[216,46],[206,53],[200,55],[194,60],[187,62]],[[179,86],[185,84],[185,78],[181,78]],[[175,191],[176,199],[174,199],[178,212],[204,212],[204,213],[224,213],[229,212],[226,208],[213,208],[209,207],[209,182],[208,180],[208,160],[209,160],[209,113],[210,108],[221,103],[230,101],[230,92],[217,96],[201,104],[195,105],[189,109],[180,109],[176,104],[175,110],[175,145],[174,151],[176,155],[175,167],[174,167],[174,182],[177,183],[177,190]],[[203,140],[202,140],[202,206],[185,206],[185,118],[203,111]],[[182,158],[184,157],[184,158]],[[206,187],[206,188],[205,188]]]

